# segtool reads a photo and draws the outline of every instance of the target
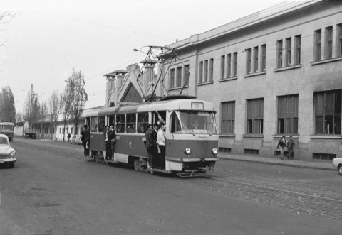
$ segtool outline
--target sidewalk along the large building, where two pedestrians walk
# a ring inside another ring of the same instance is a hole
[[[312,168],[312,169],[320,169],[320,170],[336,170],[333,167],[333,163],[331,160],[289,160],[284,158],[281,160],[279,157],[274,158],[266,158],[257,155],[234,155],[234,154],[223,154],[217,153],[217,156],[220,159],[227,160],[242,160],[253,163],[264,163],[264,164],[273,164],[273,165],[288,165],[296,168]]]

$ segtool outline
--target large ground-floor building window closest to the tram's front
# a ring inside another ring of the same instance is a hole
[[[222,102],[221,107],[221,133],[234,133],[235,102]]]

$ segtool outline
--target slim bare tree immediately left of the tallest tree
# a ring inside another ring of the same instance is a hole
[[[71,117],[73,112],[73,87],[71,85],[71,78],[69,78],[63,94],[61,94],[61,112],[63,114],[63,141],[66,137],[66,121]]]

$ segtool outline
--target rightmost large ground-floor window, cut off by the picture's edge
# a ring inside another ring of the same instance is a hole
[[[315,133],[341,135],[341,89],[316,92]]]

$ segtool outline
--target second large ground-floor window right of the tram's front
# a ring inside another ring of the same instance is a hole
[[[247,133],[261,134],[264,129],[264,99],[247,100]]]

